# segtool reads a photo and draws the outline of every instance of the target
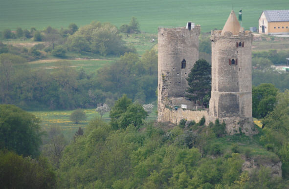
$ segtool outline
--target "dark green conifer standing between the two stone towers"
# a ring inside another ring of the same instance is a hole
[[[200,101],[200,105],[203,105],[204,97],[211,96],[211,65],[203,59],[198,60],[191,69],[187,81],[189,87],[186,97]]]

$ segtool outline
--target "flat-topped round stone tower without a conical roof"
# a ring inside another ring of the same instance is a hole
[[[185,96],[187,76],[199,59],[200,25],[187,22],[183,28],[158,28],[158,121],[171,120],[165,109],[190,108]]]

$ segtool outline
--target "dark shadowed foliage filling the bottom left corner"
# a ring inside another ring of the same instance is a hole
[[[46,159],[23,158],[14,152],[0,151],[0,185],[3,189],[54,189],[55,172]]]

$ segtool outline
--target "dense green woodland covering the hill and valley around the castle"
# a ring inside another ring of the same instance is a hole
[[[134,17],[119,29],[93,21],[80,28],[72,23],[60,30],[48,26],[2,31],[0,185],[7,189],[288,187],[289,74],[271,65],[286,64],[289,51],[252,53],[253,117],[262,121],[263,128],[256,126],[255,136],[242,132],[227,136],[219,120],[208,126],[204,118],[199,123],[181,120],[178,126],[146,120],[148,112],[142,105],[156,101],[157,52],[149,49],[139,55],[123,40],[140,32]],[[45,43],[26,48],[4,42],[11,39]],[[71,66],[75,56],[110,58],[113,63],[87,71]],[[210,56],[211,42],[202,34],[200,57],[210,62]],[[44,58],[59,59],[56,69],[39,70],[31,64]],[[207,93],[201,96],[208,101]],[[111,108],[110,122],[96,117],[70,139],[60,127],[44,132],[40,119],[25,111],[97,105]],[[244,170],[247,161],[282,162],[282,177],[266,166]]]

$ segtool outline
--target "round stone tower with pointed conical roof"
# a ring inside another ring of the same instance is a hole
[[[209,116],[229,134],[255,133],[252,119],[253,35],[243,31],[232,10],[222,30],[212,31],[212,93]]]

